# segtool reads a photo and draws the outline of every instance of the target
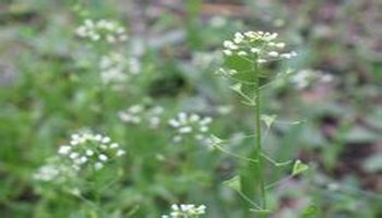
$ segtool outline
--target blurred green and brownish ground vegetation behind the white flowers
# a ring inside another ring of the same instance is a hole
[[[85,17],[116,20],[128,29],[129,40],[116,49],[139,60],[140,74],[121,89],[99,85],[102,49],[75,36]],[[193,146],[189,155],[198,165],[181,173],[168,126],[152,131],[117,114],[147,104],[164,107],[165,118],[211,116],[211,133],[234,138],[227,149],[246,154],[252,142],[240,135],[251,133],[251,111],[214,72],[225,39],[259,29],[277,32],[298,53],[270,71],[333,75],[302,89],[280,82],[263,97],[264,112],[280,120],[266,136],[267,153],[310,166],[270,193],[274,217],[382,217],[380,0],[2,0],[0,217],[87,217],[81,199],[37,189],[32,179],[83,128],[128,150],[126,175],[103,193],[105,217],[159,217],[178,202],[205,204],[208,217],[242,217],[240,197],[222,184],[240,161]],[[303,122],[288,124],[294,121]]]

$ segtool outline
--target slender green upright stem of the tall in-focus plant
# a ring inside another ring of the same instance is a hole
[[[254,63],[254,81],[255,81],[255,105],[254,105],[254,122],[255,122],[255,159],[258,159],[258,171],[260,179],[260,195],[261,195],[261,205],[263,209],[266,209],[266,199],[265,199],[265,183],[264,183],[264,173],[263,173],[263,157],[262,157],[262,145],[261,145],[261,89],[260,89],[260,77],[258,63]]]

